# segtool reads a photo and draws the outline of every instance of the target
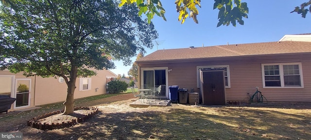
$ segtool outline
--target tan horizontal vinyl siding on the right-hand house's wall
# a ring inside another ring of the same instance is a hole
[[[256,87],[271,102],[311,102],[311,59],[309,54],[275,54],[264,56],[223,57],[187,61],[138,63],[140,68],[168,67],[168,85],[197,88],[197,66],[229,65],[230,88],[226,88],[227,101],[249,101]],[[304,88],[263,88],[261,64],[301,62]],[[247,93],[250,93],[249,95]]]

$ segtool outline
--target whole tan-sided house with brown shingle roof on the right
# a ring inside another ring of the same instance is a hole
[[[158,50],[136,61],[138,87],[161,85],[162,98],[169,98],[169,86],[193,89],[204,105],[247,102],[256,87],[271,102],[311,102],[308,40],[310,34],[285,35],[277,42]]]

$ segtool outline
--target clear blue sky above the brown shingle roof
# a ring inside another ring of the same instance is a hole
[[[234,27],[216,27],[218,23],[218,10],[213,10],[214,0],[201,0],[202,8],[198,8],[197,16],[199,24],[187,18],[184,24],[178,21],[175,0],[161,0],[166,10],[167,21],[155,16],[152,19],[159,36],[158,49],[188,48],[190,46],[202,47],[271,42],[278,41],[283,35],[311,33],[311,13],[306,18],[301,18],[297,13],[290,13],[295,6],[309,0],[242,0],[247,2],[249,8],[248,18],[243,18],[244,25],[237,23]],[[155,52],[146,49],[148,55]],[[132,58],[134,62],[136,56]],[[132,66],[123,66],[120,61],[114,61],[116,69],[111,70],[115,74],[127,75]]]

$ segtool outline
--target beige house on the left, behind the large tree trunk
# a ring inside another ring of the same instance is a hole
[[[77,78],[74,99],[106,93],[106,78],[117,77],[110,70],[95,70],[96,76]],[[32,107],[35,105],[63,102],[67,96],[67,85],[64,79],[40,76],[25,77],[22,72],[11,73],[9,70],[0,71],[0,95],[17,98],[11,107]]]

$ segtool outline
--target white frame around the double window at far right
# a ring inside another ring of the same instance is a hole
[[[265,76],[264,75],[264,66],[271,66],[271,65],[278,65],[278,67],[279,67],[279,75],[280,75],[281,87],[266,87],[265,78],[264,78],[264,76]],[[297,86],[297,87],[289,86],[289,87],[286,87],[284,85],[283,65],[298,65],[301,86]],[[261,64],[261,73],[262,73],[262,85],[263,85],[263,88],[304,88],[301,62],[295,62],[295,63],[265,63],[265,64]]]

